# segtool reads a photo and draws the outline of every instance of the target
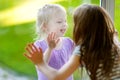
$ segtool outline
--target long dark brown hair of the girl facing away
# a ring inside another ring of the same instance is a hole
[[[98,69],[109,76],[114,65],[117,46],[114,44],[114,24],[108,13],[99,6],[84,4],[74,12],[73,39],[80,45],[81,59],[92,80]]]

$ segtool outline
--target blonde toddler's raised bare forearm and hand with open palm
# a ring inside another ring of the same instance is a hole
[[[56,39],[56,34],[55,33],[50,33],[47,37],[47,43],[48,43],[48,48],[44,53],[44,61],[49,62],[50,55],[52,50],[56,47],[57,43],[59,42],[59,39]]]

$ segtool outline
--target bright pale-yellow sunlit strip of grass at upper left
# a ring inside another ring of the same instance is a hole
[[[0,12],[0,24],[12,26],[33,22],[36,19],[38,9],[46,3],[55,3],[64,0],[32,0],[23,2],[21,5]]]

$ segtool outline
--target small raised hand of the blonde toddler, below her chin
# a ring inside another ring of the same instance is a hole
[[[56,39],[56,33],[51,32],[47,37],[48,47],[53,49],[56,47],[60,39]]]

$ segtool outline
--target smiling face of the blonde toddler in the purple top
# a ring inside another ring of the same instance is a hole
[[[46,27],[47,33],[55,32],[56,37],[62,37],[67,29],[66,13],[64,11],[53,13]]]

